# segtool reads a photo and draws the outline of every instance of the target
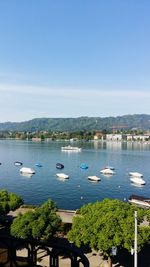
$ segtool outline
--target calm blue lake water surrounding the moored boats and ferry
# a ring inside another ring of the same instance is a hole
[[[150,197],[150,146],[120,142],[73,144],[83,148],[82,152],[62,152],[63,142],[33,143],[30,141],[0,140],[0,190],[21,195],[25,203],[42,204],[53,199],[59,208],[77,209],[83,204],[108,198],[128,199],[131,194]],[[21,176],[20,167],[34,168],[32,177]],[[38,168],[35,163],[42,163]],[[60,171],[70,178],[61,181],[56,177],[59,171],[56,163],[65,168]],[[80,164],[88,164],[88,170],[81,170]],[[100,174],[105,165],[115,167],[116,174],[107,177]],[[128,172],[137,171],[144,175],[146,185],[131,184]],[[88,175],[101,177],[98,183],[90,182]]]

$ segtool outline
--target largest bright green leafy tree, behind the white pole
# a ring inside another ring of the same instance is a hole
[[[70,241],[78,247],[89,245],[102,250],[112,266],[112,247],[131,251],[134,244],[134,210],[129,203],[104,199],[102,202],[87,204],[73,218],[72,229],[68,233]],[[142,222],[144,211],[138,210],[138,221]],[[138,248],[148,240],[150,227],[138,230]],[[144,236],[144,238],[142,238]]]

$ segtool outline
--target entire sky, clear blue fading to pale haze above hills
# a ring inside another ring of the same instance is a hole
[[[0,0],[0,122],[150,114],[149,0]]]

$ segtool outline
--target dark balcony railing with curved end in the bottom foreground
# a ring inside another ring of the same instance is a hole
[[[0,236],[0,266],[89,267],[89,261],[68,242],[45,243]]]

